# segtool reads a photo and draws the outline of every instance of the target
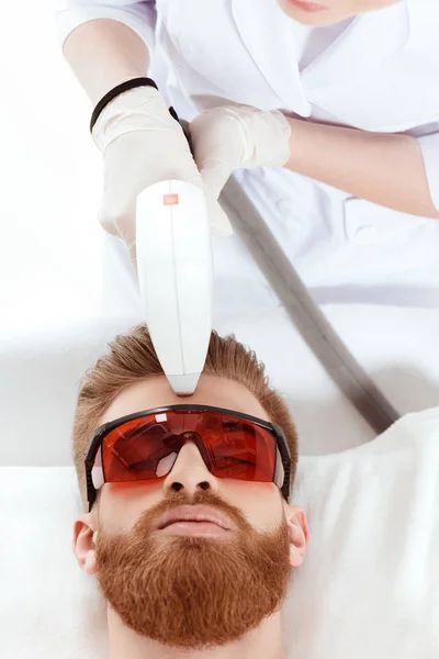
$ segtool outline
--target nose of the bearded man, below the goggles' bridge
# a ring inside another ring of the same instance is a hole
[[[218,483],[205,466],[196,445],[193,442],[187,442],[166,477],[164,488],[167,492],[184,490],[185,494],[192,495],[200,490],[210,490],[216,493]]]

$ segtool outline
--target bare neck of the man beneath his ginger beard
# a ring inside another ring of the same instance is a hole
[[[277,613],[244,639],[210,650],[179,650],[138,636],[109,608],[110,659],[285,659]]]

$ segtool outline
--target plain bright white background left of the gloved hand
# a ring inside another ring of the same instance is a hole
[[[52,2],[0,21],[0,333],[93,316],[100,290],[101,157],[91,107],[64,62]],[[13,284],[13,286],[12,286]]]

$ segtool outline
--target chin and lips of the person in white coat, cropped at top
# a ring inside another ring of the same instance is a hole
[[[333,25],[365,11],[397,4],[401,0],[278,0],[292,19],[306,25]]]

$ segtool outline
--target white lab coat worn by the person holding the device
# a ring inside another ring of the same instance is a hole
[[[245,103],[417,137],[439,209],[437,0],[403,0],[357,16],[303,70],[294,23],[274,0],[57,0],[61,42],[94,18],[120,20],[145,40],[161,91],[185,119]],[[439,221],[285,169],[239,178],[315,300],[398,411],[437,404]],[[289,325],[240,239],[215,239],[214,249],[215,325],[234,331],[267,362],[292,402],[303,448],[313,453],[313,434],[322,432],[328,450],[370,438]],[[127,300],[126,289],[115,302],[117,286],[109,283],[113,309]]]

